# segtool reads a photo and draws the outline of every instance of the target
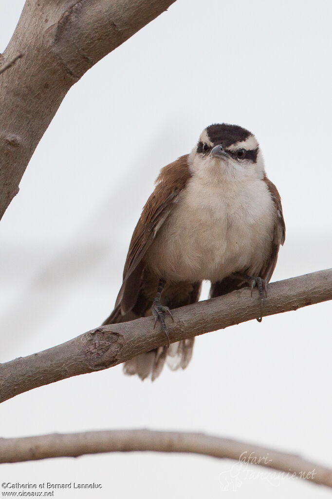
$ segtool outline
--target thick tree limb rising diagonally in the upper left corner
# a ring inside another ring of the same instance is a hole
[[[106,54],[175,0],[27,1],[0,58],[0,219],[63,98]]]

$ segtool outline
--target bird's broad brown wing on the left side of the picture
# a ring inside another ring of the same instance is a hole
[[[132,235],[124,264],[123,282],[115,303],[115,307],[120,306],[122,314],[136,303],[143,271],[142,258],[190,176],[188,155],[185,155],[162,168],[156,180],[155,190],[147,200]]]

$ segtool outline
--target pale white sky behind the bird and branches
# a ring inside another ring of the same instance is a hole
[[[0,51],[23,3],[1,11]],[[213,122],[256,135],[282,196],[286,243],[272,280],[331,266],[331,14],[331,1],[178,0],[83,76],[0,223],[1,362],[109,315],[160,168]],[[204,431],[332,466],[331,314],[322,303],[203,335],[186,371],[165,369],[153,384],[117,366],[24,393],[0,406],[1,434]],[[220,498],[232,466],[113,454],[2,465],[0,482],[103,485],[59,499]],[[239,499],[330,497],[298,480],[239,478]]]

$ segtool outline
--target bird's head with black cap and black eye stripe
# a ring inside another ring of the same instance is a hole
[[[255,136],[238,125],[210,125],[189,156],[194,175],[216,181],[262,179],[264,160]]]

